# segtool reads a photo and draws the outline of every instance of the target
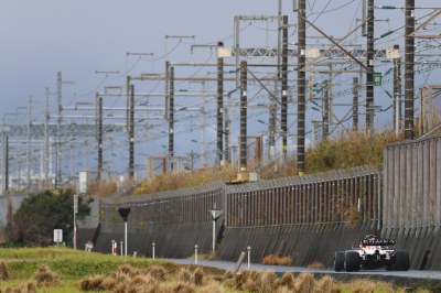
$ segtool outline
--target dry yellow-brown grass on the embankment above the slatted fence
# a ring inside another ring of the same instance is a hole
[[[383,150],[387,143],[396,142],[399,138],[392,131],[377,131],[373,137],[364,132],[341,133],[340,137],[325,140],[314,149],[306,150],[305,172],[314,174],[335,169],[348,169],[361,165],[377,166],[383,163]],[[257,172],[262,180],[297,176],[297,162],[288,158],[282,165],[270,163],[261,166],[249,162],[249,172]],[[206,167],[192,172],[172,173],[155,176],[138,186],[133,194],[154,194],[163,191],[201,186],[218,181],[236,178],[237,171],[230,165],[224,167]],[[114,183],[101,183],[90,186],[92,193],[106,196],[116,191]]]

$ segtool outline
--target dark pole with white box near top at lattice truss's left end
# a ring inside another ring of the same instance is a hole
[[[223,47],[224,43],[218,42],[217,47]],[[224,58],[217,56],[217,165],[223,164],[224,137]]]

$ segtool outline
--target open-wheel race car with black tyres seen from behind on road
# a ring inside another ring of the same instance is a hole
[[[355,272],[359,269],[381,269],[407,271],[409,270],[409,253],[395,249],[395,240],[378,239],[367,235],[359,242],[358,248],[346,251],[336,251],[334,256],[334,270],[336,272]]]

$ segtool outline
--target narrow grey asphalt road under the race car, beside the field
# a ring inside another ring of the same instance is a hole
[[[195,264],[194,259],[171,259],[170,261],[181,264]],[[198,265],[215,267],[224,270],[233,270],[235,262],[222,261],[222,260],[198,260]],[[240,270],[248,269],[248,263],[245,261],[240,265]],[[302,267],[286,267],[286,265],[266,265],[259,263],[250,263],[249,269],[256,269],[259,271],[273,271],[278,274],[284,272],[302,273],[311,272],[316,278],[323,275],[331,275],[336,280],[351,280],[355,278],[370,278],[375,280],[383,280],[386,282],[392,282],[397,285],[410,285],[410,284],[423,284],[430,286],[441,286],[441,271],[386,271],[386,270],[362,270],[359,272],[335,272],[334,270],[316,270],[308,269]]]

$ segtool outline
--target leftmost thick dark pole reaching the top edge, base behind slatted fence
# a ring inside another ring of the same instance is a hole
[[[299,176],[304,175],[304,118],[305,118],[305,51],[306,51],[306,1],[299,0],[298,10],[298,139],[297,169]]]

